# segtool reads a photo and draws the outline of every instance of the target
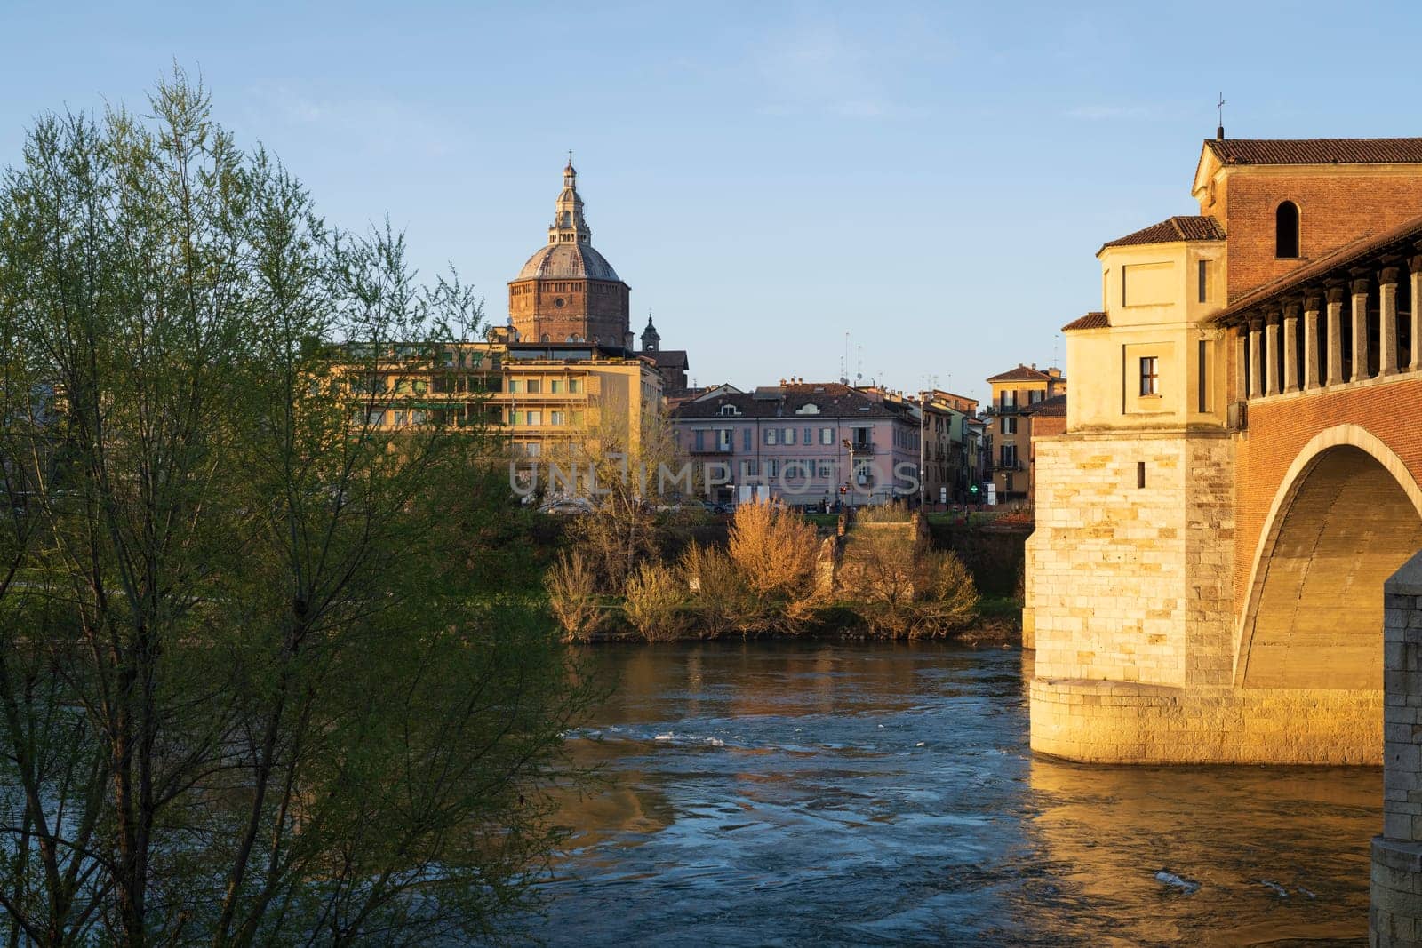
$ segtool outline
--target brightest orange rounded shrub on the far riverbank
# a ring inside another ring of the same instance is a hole
[[[798,597],[811,586],[815,526],[778,503],[742,503],[731,523],[731,561],[758,596]]]

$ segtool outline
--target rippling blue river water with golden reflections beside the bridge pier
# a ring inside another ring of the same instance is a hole
[[[1030,652],[603,647],[553,945],[1365,944],[1376,769],[1032,756]]]

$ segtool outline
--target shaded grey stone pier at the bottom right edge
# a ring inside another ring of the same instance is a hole
[[[1372,837],[1368,942],[1422,945],[1422,553],[1382,587],[1382,836]],[[1416,628],[1409,628],[1416,625]]]

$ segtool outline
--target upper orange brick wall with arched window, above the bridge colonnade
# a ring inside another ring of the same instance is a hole
[[[1422,171],[1408,175],[1249,173],[1227,179],[1229,298],[1321,257],[1357,237],[1422,213]],[[1274,212],[1300,212],[1298,260],[1274,257]],[[1212,213],[1219,208],[1209,209]]]

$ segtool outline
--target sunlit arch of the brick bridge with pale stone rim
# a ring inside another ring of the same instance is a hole
[[[1422,488],[1359,425],[1320,432],[1280,483],[1239,624],[1243,688],[1382,688],[1382,583],[1422,549]]]

